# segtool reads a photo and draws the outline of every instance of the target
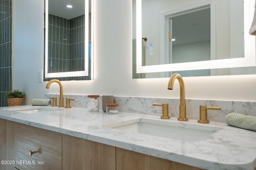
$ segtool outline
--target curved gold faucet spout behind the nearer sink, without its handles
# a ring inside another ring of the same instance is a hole
[[[168,83],[168,89],[173,89],[174,80],[176,78],[179,81],[180,84],[180,117],[178,118],[179,121],[188,121],[188,118],[186,118],[186,104],[185,104],[185,84],[183,81],[183,78],[180,74],[174,73],[170,77],[169,83]]]

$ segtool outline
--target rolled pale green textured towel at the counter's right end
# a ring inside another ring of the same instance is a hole
[[[226,115],[226,123],[230,126],[256,131],[256,116],[229,113]]]

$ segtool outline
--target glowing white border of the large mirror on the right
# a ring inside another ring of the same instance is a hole
[[[210,3],[210,1],[205,2]],[[142,66],[142,0],[136,0],[136,73],[256,66],[255,36],[249,34],[254,16],[254,1],[244,0],[244,9],[246,9],[244,10],[244,30],[247,30],[244,33],[244,57]]]

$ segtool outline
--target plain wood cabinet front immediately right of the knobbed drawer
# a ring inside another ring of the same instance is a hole
[[[115,147],[62,135],[63,170],[115,170]]]

